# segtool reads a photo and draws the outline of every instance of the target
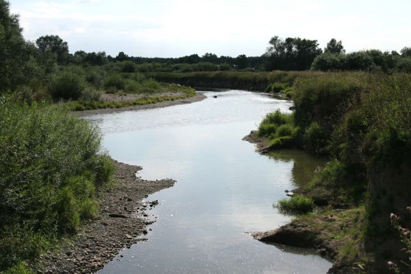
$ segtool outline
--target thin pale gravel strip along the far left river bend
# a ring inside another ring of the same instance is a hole
[[[188,97],[184,99],[175,99],[174,101],[162,101],[159,103],[151,103],[148,105],[130,105],[124,108],[101,108],[97,110],[83,110],[83,111],[76,111],[73,112],[77,114],[78,116],[89,116],[89,115],[95,115],[95,114],[108,114],[108,113],[115,113],[115,112],[125,112],[125,111],[132,111],[132,110],[148,110],[151,108],[166,108],[171,105],[182,105],[184,103],[194,103],[197,101],[201,101],[203,99],[206,99],[207,97],[203,95],[201,92],[197,92],[195,96],[193,97]],[[126,99],[132,100],[129,97]],[[113,100],[113,99],[110,99]]]

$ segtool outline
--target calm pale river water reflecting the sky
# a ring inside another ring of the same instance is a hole
[[[177,181],[147,198],[160,202],[147,211],[157,220],[149,240],[123,249],[99,273],[326,273],[332,264],[314,251],[249,236],[288,223],[292,216],[273,204],[323,164],[301,151],[259,155],[241,140],[267,112],[289,112],[292,103],[240,90],[205,95],[88,118],[112,158],[142,166],[143,179]]]

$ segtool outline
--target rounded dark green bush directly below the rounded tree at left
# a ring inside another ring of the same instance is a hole
[[[49,92],[54,99],[79,99],[84,90],[84,82],[82,77],[66,71],[56,76],[50,86]]]

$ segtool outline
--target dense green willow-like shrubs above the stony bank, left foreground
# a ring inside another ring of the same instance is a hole
[[[97,216],[114,166],[95,127],[47,105],[0,101],[0,271],[25,262]]]

